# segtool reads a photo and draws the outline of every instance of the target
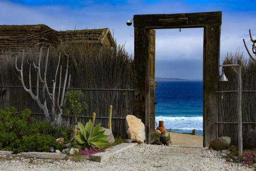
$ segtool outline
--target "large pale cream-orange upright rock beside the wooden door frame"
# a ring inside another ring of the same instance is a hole
[[[126,134],[132,141],[143,143],[145,141],[145,125],[133,115],[127,115],[125,121]]]

